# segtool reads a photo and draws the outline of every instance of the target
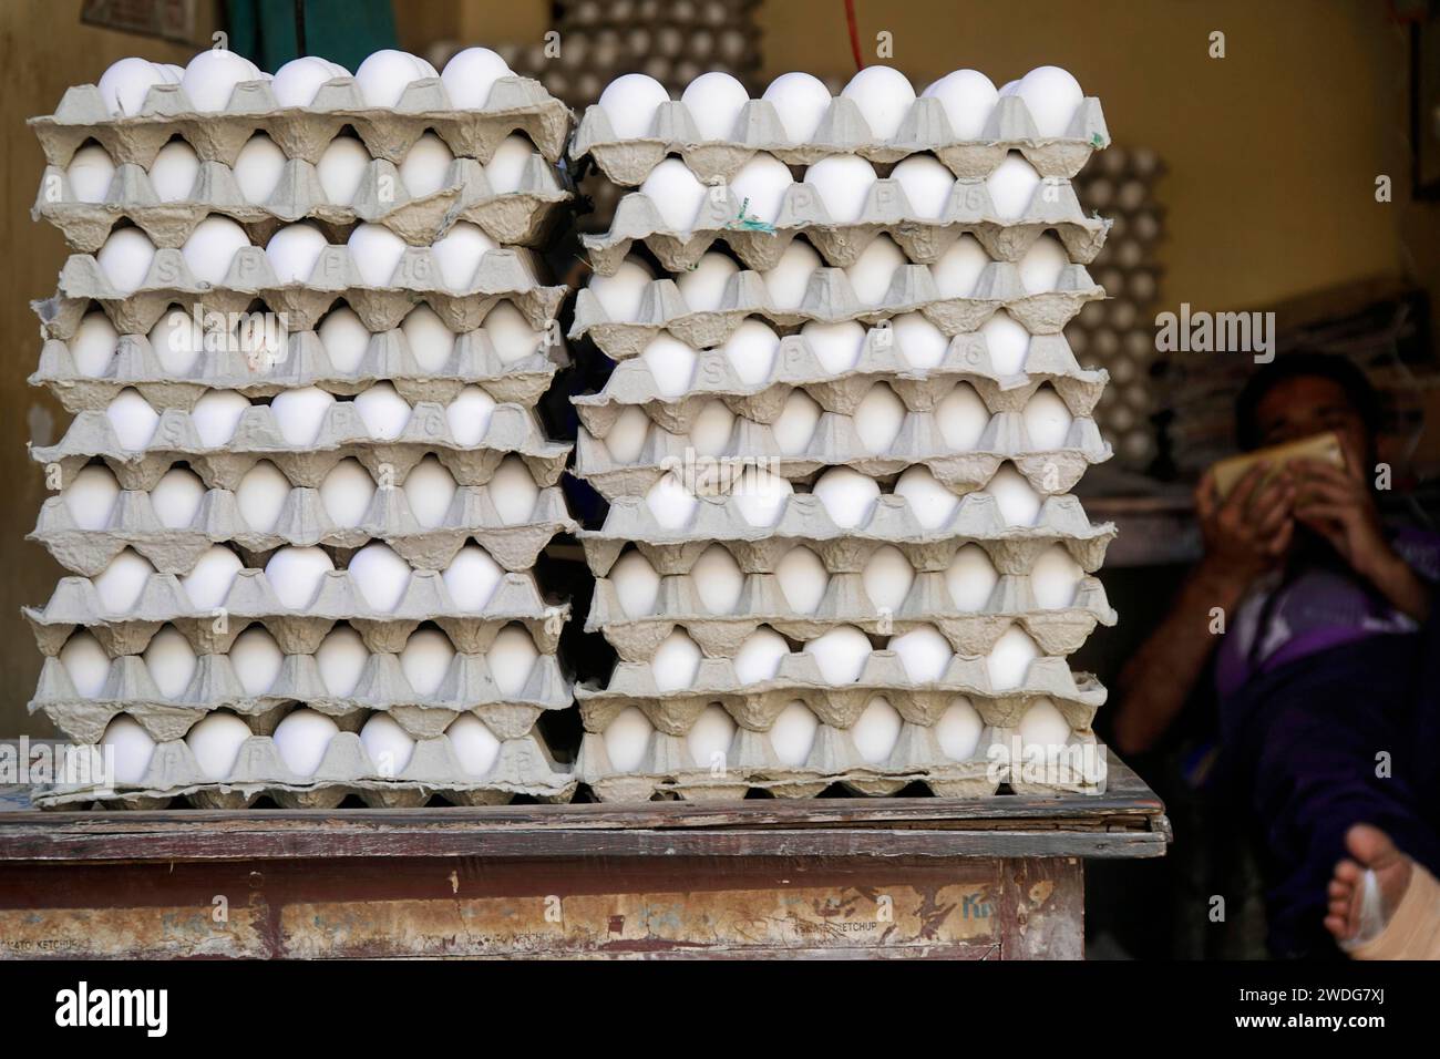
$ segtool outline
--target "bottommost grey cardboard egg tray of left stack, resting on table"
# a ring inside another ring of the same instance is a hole
[[[272,738],[256,735],[242,743],[230,775],[215,781],[200,769],[189,745],[173,739],[156,746],[140,784],[114,790],[56,785],[37,791],[33,801],[42,808],[101,803],[154,810],[176,800],[196,808],[249,808],[269,797],[282,808],[336,808],[353,794],[372,808],[418,808],[436,795],[456,805],[504,805],[517,795],[564,803],[575,795],[576,782],[572,768],[556,762],[539,732],[501,742],[500,756],[482,777],[465,772],[444,735],[418,742],[406,767],[386,775],[359,735],[340,732],[310,777],[285,765]]]

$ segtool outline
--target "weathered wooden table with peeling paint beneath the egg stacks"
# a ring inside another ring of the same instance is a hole
[[[0,797],[0,957],[1080,958],[1165,807],[819,798],[50,813]],[[0,791],[0,795],[4,792]]]

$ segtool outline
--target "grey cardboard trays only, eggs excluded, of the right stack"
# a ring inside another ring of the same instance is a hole
[[[651,135],[639,141],[618,141],[599,108],[589,108],[580,121],[572,154],[592,156],[618,184],[639,184],[672,154],[703,183],[721,182],[687,232],[664,228],[655,203],[642,193],[626,195],[611,231],[586,239],[598,274],[613,272],[634,242],[644,242],[671,272],[694,265],[714,242],[727,243],[743,262],[742,271],[727,281],[717,311],[693,311],[672,278],[648,284],[632,320],[609,318],[592,291],[582,290],[577,297],[572,339],[586,336],[618,362],[600,393],[573,399],[582,422],[576,473],[611,504],[600,529],[579,535],[599,579],[588,628],[602,631],[619,654],[605,687],[576,687],[585,726],[576,771],[600,800],[730,798],[752,790],[814,797],[832,784],[858,794],[888,795],[912,782],[945,797],[992,795],[1007,782],[1015,791],[1103,791],[1103,777],[1037,781],[1005,767],[996,769],[992,761],[996,749],[1012,745],[1021,716],[1040,697],[1051,699],[1064,716],[1071,729],[1070,746],[1097,746],[1092,720],[1104,700],[1104,689],[1089,674],[1073,674],[1066,656],[1080,647],[1097,622],[1115,621],[1093,576],[1115,529],[1093,526],[1068,490],[1089,464],[1110,455],[1092,418],[1106,375],[1080,369],[1063,329],[1086,303],[1104,297],[1089,278],[1084,262],[1103,246],[1106,223],[1083,213],[1068,180],[1109,135],[1094,99],[1087,99],[1077,112],[1070,135],[1050,141],[1034,134],[1024,102],[1015,98],[999,101],[984,143],[958,141],[939,107],[933,99],[917,101],[900,133],[880,143],[851,101],[837,98],[815,143],[804,147],[785,143],[765,101],[747,105],[737,122],[737,138],[726,143],[697,143],[693,121],[678,102],[662,104]],[[984,179],[1009,150],[1021,151],[1045,182],[1021,218],[1005,220],[989,203]],[[910,213],[899,184],[881,179],[854,225],[831,223],[814,189],[795,184],[786,192],[776,232],[756,232],[736,223],[742,218],[740,203],[723,182],[757,151],[773,153],[791,166],[855,153],[877,163],[881,173],[903,157],[930,151],[950,167],[959,184],[943,219],[930,222]],[[1045,231],[1057,232],[1076,264],[1066,269],[1060,290],[1027,295],[1014,262]],[[890,233],[912,264],[896,272],[880,305],[867,307],[841,268],[880,232]],[[986,268],[975,295],[942,300],[926,262],[936,259],[962,232],[975,235],[995,262]],[[828,267],[811,275],[798,310],[780,310],[770,303],[762,277],[750,269],[772,265],[795,236],[809,241]],[[996,370],[984,336],[975,333],[999,308],[1008,310],[1034,336],[1025,372]],[[952,340],[935,367],[913,367],[886,323],[913,310]],[[716,349],[747,316],[763,317],[785,334],[770,376],[757,383],[742,382],[723,350]],[[860,320],[877,326],[870,329],[858,363],[837,375],[827,372],[795,333],[811,320]],[[647,343],[667,330],[697,350],[690,388],[678,395],[662,392],[641,359]],[[888,383],[907,412],[891,448],[880,454],[864,451],[850,421],[874,382]],[[973,451],[946,448],[935,419],[936,402],[956,382],[971,383],[991,414]],[[1073,415],[1063,448],[1054,451],[1037,451],[1030,444],[1020,415],[1045,383]],[[769,424],[795,389],[806,392],[824,414],[809,447],[801,454],[782,455]],[[819,497],[795,491],[773,520],[746,517],[737,497],[720,494],[696,497],[683,527],[661,524],[647,493],[668,470],[684,467],[684,435],[698,409],[716,398],[740,416],[729,447],[714,455],[720,465],[765,460],[769,470],[801,488],[829,467],[850,465],[888,488],[901,470],[926,464],[962,494],[953,516],[942,526],[926,527],[904,497],[883,490],[858,523],[842,526]],[[636,460],[621,464],[606,448],[605,437],[629,406],[642,408],[654,426]],[[995,499],[979,491],[1007,461],[1044,497],[1032,526],[1007,524]],[[733,555],[744,575],[732,614],[707,609],[691,573],[697,558],[716,543]],[[995,591],[978,612],[958,611],[945,582],[946,568],[966,543],[978,543],[999,573]],[[1086,576],[1070,607],[1040,609],[1028,575],[1035,558],[1057,543]],[[612,568],[631,546],[661,576],[654,612],[642,618],[626,614],[611,581]],[[825,595],[811,614],[789,607],[775,575],[780,558],[795,546],[815,552],[829,575]],[[899,548],[916,571],[909,595],[893,611],[876,607],[861,575],[867,559],[884,546]],[[937,680],[919,683],[909,677],[893,650],[871,651],[851,684],[827,683],[815,657],[802,651],[785,656],[769,680],[746,683],[737,676],[736,651],[760,625],[770,625],[793,641],[809,641],[845,624],[881,638],[935,625],[955,657]],[[1031,635],[1044,657],[1030,664],[1018,687],[999,690],[991,684],[985,656],[1012,625]],[[657,684],[651,658],[675,628],[694,638],[703,658],[688,687],[664,689]],[[888,758],[867,762],[851,729],[874,696],[894,706],[903,726]],[[945,755],[936,729],[956,696],[968,696],[984,722],[973,754],[963,761]],[[780,764],[768,735],[780,710],[795,699],[819,719],[809,756],[799,767]],[[724,768],[719,769],[697,762],[687,745],[687,735],[713,705],[720,705],[737,725]],[[609,761],[605,730],[631,706],[645,713],[654,733],[641,767],[622,772]]]

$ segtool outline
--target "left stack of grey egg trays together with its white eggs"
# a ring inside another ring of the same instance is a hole
[[[36,216],[73,249],[36,303],[32,383],[75,418],[33,450],[59,490],[33,537],[69,576],[26,611],[46,656],[30,709],[112,748],[115,779],[37,801],[569,800],[534,728],[573,702],[569,605],[531,569],[573,529],[569,445],[534,412],[564,288],[501,246],[534,245],[569,197],[567,108],[517,76],[480,110],[438,79],[376,108],[337,78],[311,107],[255,81],[213,112],[163,85],[117,118],[86,85],[32,125]],[[533,157],[497,193],[513,133]],[[285,158],[256,195],[238,158],[266,137]],[[344,202],[323,164],[340,138],[369,156]],[[151,169],[181,141],[194,180],[167,196]],[[408,189],[436,143],[444,179]]]

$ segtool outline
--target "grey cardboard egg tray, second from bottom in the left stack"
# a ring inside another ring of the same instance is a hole
[[[420,694],[405,679],[395,654],[376,653],[366,663],[359,686],[347,696],[325,690],[314,656],[287,654],[275,684],[264,694],[249,694],[228,654],[202,654],[186,690],[164,696],[138,654],[111,661],[105,687],[96,696],[75,690],[65,666],[46,657],[30,700],[32,713],[45,713],[66,738],[84,745],[104,739],[105,728],[120,713],[132,716],[156,742],[183,739],[215,710],[230,710],[271,735],[281,718],[304,703],[347,730],[359,730],[370,713],[384,712],[416,739],[433,739],[461,713],[474,713],[500,739],[528,735],[546,710],[569,709],[570,683],[553,654],[541,654],[517,694],[497,686],[482,653],[456,654],[445,680],[432,694]]]

